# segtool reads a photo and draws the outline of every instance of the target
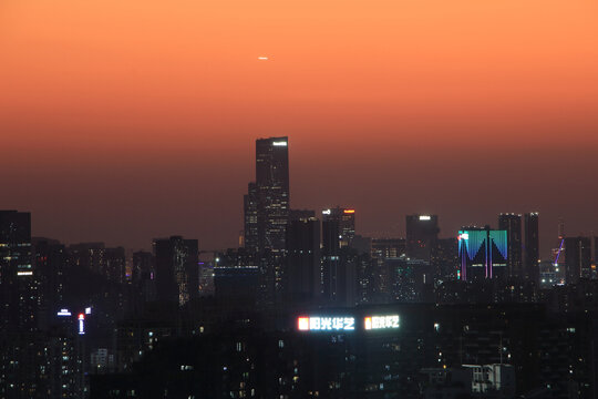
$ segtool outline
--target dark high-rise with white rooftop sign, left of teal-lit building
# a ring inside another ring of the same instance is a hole
[[[406,255],[430,262],[432,247],[439,238],[439,216],[406,215]]]

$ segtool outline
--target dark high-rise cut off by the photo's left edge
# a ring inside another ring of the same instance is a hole
[[[0,330],[35,328],[31,214],[0,211]]]

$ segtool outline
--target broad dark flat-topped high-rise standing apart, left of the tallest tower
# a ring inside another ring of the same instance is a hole
[[[199,294],[197,239],[181,236],[154,241],[157,300],[185,305]]]

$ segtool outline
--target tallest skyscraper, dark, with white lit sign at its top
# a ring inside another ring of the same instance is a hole
[[[256,141],[258,249],[285,250],[289,218],[288,137]]]

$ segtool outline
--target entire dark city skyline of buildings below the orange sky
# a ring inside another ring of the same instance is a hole
[[[0,398],[597,397],[596,238],[539,262],[537,213],[363,237],[291,209],[288,170],[256,142],[240,248],[66,246],[0,212]]]

